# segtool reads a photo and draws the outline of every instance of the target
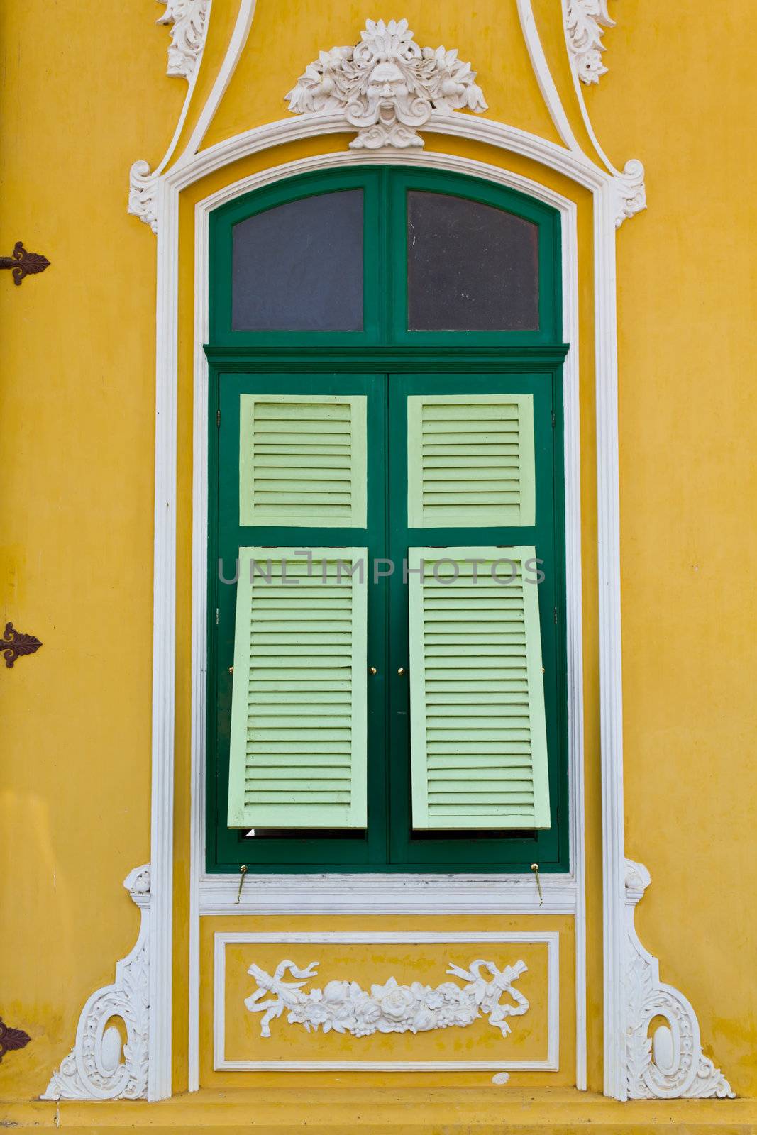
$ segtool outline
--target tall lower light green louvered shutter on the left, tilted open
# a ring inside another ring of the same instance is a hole
[[[229,827],[365,826],[367,550],[311,555],[239,548]]]

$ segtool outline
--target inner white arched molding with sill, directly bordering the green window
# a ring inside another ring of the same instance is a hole
[[[569,764],[571,805],[571,875],[542,874],[545,896],[539,906],[531,876],[296,875],[250,876],[237,903],[238,875],[207,875],[205,847],[205,665],[207,665],[207,406],[208,361],[208,229],[213,209],[254,188],[316,169],[376,161],[452,170],[482,177],[527,193],[561,212],[563,263],[563,334],[571,344],[563,367],[565,406],[566,637],[569,689]],[[596,167],[595,167],[596,168]],[[586,918],[583,846],[583,678],[582,569],[580,515],[579,310],[577,207],[537,182],[479,161],[432,152],[369,154],[340,151],[274,167],[219,190],[195,207],[195,352],[193,449],[193,561],[192,561],[192,827],[190,881],[190,1090],[199,1087],[199,915],[210,914],[577,914],[575,1020],[577,1084],[586,1088]]]

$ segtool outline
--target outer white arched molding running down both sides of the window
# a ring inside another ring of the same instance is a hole
[[[252,153],[285,142],[344,131],[334,115],[303,115],[247,131],[188,157],[157,185],[158,297],[155,367],[155,557],[153,602],[153,728],[151,848],[154,915],[151,943],[150,1096],[170,1094],[170,981],[173,919],[174,665],[176,575],[176,382],[178,202],[183,188]],[[597,491],[599,526],[599,637],[603,771],[603,909],[605,989],[605,1091],[623,1098],[624,1014],[622,935],[624,918],[623,781],[620,651],[620,523],[617,489],[617,359],[615,325],[615,217],[613,179],[584,155],[506,124],[468,115],[436,114],[424,133],[468,137],[519,153],[555,169],[592,194],[595,266],[595,353],[597,385]],[[441,158],[443,155],[437,155]],[[345,151],[336,162],[351,160]],[[373,160],[386,160],[377,154]],[[428,160],[426,153],[421,160]],[[365,160],[363,154],[360,159]],[[399,159],[406,161],[406,157]],[[335,162],[335,163],[336,163]],[[497,169],[497,167],[490,167]],[[477,163],[478,169],[478,163]],[[503,174],[504,171],[499,171]],[[536,184],[536,183],[535,183]],[[540,187],[544,191],[544,187]],[[220,203],[218,201],[217,203]],[[200,245],[197,244],[196,254]],[[567,262],[567,258],[565,258]],[[202,337],[199,338],[201,353]],[[202,365],[195,359],[195,367]],[[196,423],[195,423],[196,424]],[[199,468],[195,463],[195,468]],[[196,501],[195,501],[196,505]],[[196,512],[195,512],[196,515]],[[197,657],[199,621],[193,625]],[[200,676],[197,674],[197,676]],[[202,695],[193,707],[193,732],[204,720]],[[193,829],[200,823],[193,801]],[[199,901],[199,899],[197,899]]]

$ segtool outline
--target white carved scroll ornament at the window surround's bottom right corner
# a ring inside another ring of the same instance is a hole
[[[701,1051],[699,1022],[689,1001],[659,981],[659,962],[641,945],[633,925],[636,905],[649,885],[649,872],[625,860],[626,1001],[625,1076],[631,1100],[680,1096],[732,1096],[720,1068]],[[655,1017],[666,1024],[649,1028]]]

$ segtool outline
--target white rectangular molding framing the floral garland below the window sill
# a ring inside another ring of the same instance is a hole
[[[346,932],[217,932],[213,949],[213,1068],[217,1071],[556,1071],[560,1068],[560,934],[455,933],[434,931]],[[226,1045],[226,947],[235,944],[515,944],[547,945],[547,1056],[544,1060],[227,1060]]]

